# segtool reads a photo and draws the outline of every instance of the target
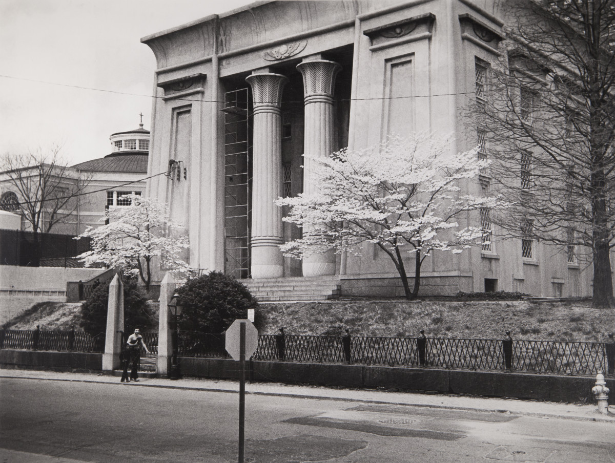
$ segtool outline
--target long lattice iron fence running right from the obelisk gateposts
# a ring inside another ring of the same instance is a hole
[[[228,357],[224,334],[180,333],[179,345],[183,357]],[[601,342],[264,334],[252,359],[596,374],[613,373],[611,350]]]

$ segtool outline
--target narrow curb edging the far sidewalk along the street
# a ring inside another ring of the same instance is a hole
[[[215,387],[192,387],[192,386],[175,386],[172,384],[147,384],[140,382],[134,384],[133,382],[110,382],[110,381],[97,381],[96,379],[68,379],[68,378],[38,378],[36,376],[5,376],[0,374],[0,379],[38,379],[40,381],[65,381],[65,382],[89,382],[93,384],[116,384],[117,386],[130,386],[130,387],[157,387],[159,389],[183,389],[183,390],[192,390],[192,391],[200,391],[200,392],[226,392],[231,394],[239,394],[236,390],[230,389],[219,389]],[[460,411],[476,411],[483,413],[509,413],[517,416],[534,416],[534,417],[543,417],[546,419],[549,418],[557,418],[557,419],[568,419],[574,421],[594,421],[594,422],[610,422],[615,423],[615,414],[609,413],[610,416],[574,416],[574,415],[563,415],[563,414],[552,414],[552,413],[535,413],[535,412],[525,412],[525,411],[511,411],[504,410],[501,408],[473,408],[473,407],[464,407],[464,406],[454,406],[454,405],[433,405],[426,403],[405,403],[405,402],[392,402],[387,400],[376,400],[376,399],[359,399],[359,398],[350,398],[350,397],[327,397],[327,396],[319,396],[319,395],[309,395],[309,394],[288,394],[284,392],[263,392],[263,391],[245,391],[247,395],[261,395],[261,396],[269,396],[269,397],[287,397],[287,398],[308,398],[314,400],[335,400],[336,402],[363,402],[363,403],[374,403],[378,405],[398,405],[398,406],[413,406],[417,408],[433,408],[437,410],[460,410]]]

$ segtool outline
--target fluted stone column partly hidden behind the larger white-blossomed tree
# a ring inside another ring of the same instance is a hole
[[[312,157],[327,157],[333,152],[333,86],[341,66],[334,61],[306,58],[297,65],[303,75],[305,103],[303,192],[317,191],[318,181]],[[309,234],[306,227],[303,234]],[[303,259],[303,276],[335,275],[335,254],[328,251]]]

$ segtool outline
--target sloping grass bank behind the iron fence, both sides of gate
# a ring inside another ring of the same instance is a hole
[[[80,304],[40,303],[7,323],[15,330],[79,329]],[[368,301],[261,304],[264,334],[284,326],[287,334],[344,334],[433,338],[605,341],[615,331],[615,310],[590,303],[540,301]]]

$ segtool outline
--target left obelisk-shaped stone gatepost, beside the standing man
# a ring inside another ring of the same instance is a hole
[[[124,332],[124,283],[116,274],[109,285],[107,304],[107,330],[105,336],[105,353],[103,354],[103,371],[119,368],[119,354],[122,351],[122,333]]]

